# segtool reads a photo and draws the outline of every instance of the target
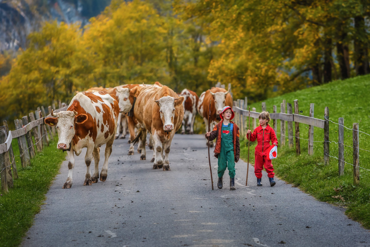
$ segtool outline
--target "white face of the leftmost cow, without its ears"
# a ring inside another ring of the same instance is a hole
[[[68,149],[76,132],[74,128],[74,112],[61,111],[54,114],[58,118],[55,128],[58,131],[58,149]]]

